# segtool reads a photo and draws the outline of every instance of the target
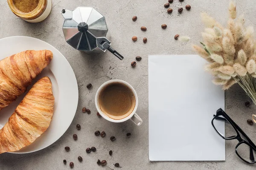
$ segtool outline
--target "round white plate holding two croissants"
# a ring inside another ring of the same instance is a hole
[[[0,60],[25,50],[51,50],[53,58],[50,64],[32,82],[48,76],[52,81],[52,91],[55,97],[54,113],[49,128],[38,139],[27,147],[13,153],[31,153],[54,143],[70,126],[76,114],[78,105],[78,86],[76,76],[67,59],[52,45],[32,37],[7,37],[0,40]],[[29,86],[27,92],[32,87]],[[2,128],[23,97],[0,111],[0,128]]]

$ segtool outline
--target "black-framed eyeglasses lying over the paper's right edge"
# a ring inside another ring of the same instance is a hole
[[[254,159],[254,156],[256,156],[256,145],[250,140],[244,131],[241,130],[241,128],[236,125],[236,123],[221,108],[218,109],[216,115],[213,116],[214,118],[212,119],[212,126],[219,136],[226,140],[237,139],[239,141],[235,149],[237,156],[248,164],[256,163]],[[226,135],[223,129],[218,129],[220,120],[227,122],[226,128],[228,131]],[[242,139],[239,132],[242,134],[242,136],[244,136],[245,139]]]

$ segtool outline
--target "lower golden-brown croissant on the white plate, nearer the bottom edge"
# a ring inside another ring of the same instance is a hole
[[[52,82],[49,77],[43,77],[0,130],[0,153],[20,150],[41,136],[50,125],[53,106]]]

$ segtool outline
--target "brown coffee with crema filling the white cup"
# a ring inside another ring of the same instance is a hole
[[[124,119],[134,110],[135,96],[126,85],[115,82],[100,92],[99,107],[111,119]]]

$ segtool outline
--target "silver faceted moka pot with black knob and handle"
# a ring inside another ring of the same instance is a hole
[[[110,51],[119,59],[121,54],[115,51],[106,38],[108,27],[105,17],[92,7],[78,7],[73,11],[62,9],[65,21],[63,33],[66,42],[78,51],[87,53]]]

